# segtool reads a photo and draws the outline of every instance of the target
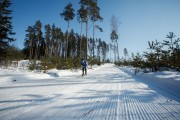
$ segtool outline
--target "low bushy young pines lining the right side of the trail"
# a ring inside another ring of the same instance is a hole
[[[173,32],[166,36],[163,42],[148,41],[149,51],[142,55],[132,53],[129,57],[128,51],[124,48],[124,56],[117,65],[133,66],[136,68],[149,68],[151,71],[174,69],[180,71],[180,38],[176,38]]]

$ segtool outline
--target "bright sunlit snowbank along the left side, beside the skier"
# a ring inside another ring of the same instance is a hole
[[[37,80],[49,80],[56,79],[65,76],[81,76],[81,69],[76,70],[47,70],[47,73],[43,71],[30,71],[28,66],[31,63],[29,60],[21,60],[16,66],[8,66],[7,68],[0,68],[0,84],[11,84],[12,82],[29,82]],[[99,66],[94,65],[92,68],[89,66],[88,72],[99,69]]]

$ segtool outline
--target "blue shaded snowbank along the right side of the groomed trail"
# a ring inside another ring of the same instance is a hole
[[[162,71],[162,72],[140,72],[134,75],[134,69],[124,67],[121,68],[128,74],[134,76],[134,79],[141,80],[151,86],[156,86],[173,95],[173,99],[180,102],[180,72]]]

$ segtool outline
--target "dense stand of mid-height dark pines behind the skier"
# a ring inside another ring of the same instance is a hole
[[[44,30],[42,29],[43,26],[39,20],[35,25],[28,26],[23,49],[27,59],[42,60],[46,62],[46,66],[58,69],[80,66],[80,58],[86,54],[87,42],[84,35],[80,36],[71,29],[67,43],[67,32],[63,33],[61,28],[56,27],[55,24],[52,26],[47,24]],[[100,64],[101,61],[105,62],[107,59],[109,45],[101,38],[89,38],[88,50],[90,64]]]

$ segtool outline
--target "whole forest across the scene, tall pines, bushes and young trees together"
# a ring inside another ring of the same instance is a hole
[[[79,10],[75,11],[71,3],[59,12],[59,16],[67,22],[66,32],[55,24],[43,25],[41,20],[34,21],[34,25],[27,26],[24,48],[19,49],[12,43],[13,35],[12,10],[10,0],[0,0],[0,66],[9,66],[14,61],[27,59],[31,61],[30,70],[37,68],[36,61],[40,61],[41,69],[77,69],[80,68],[80,59],[86,58],[89,65],[101,65],[105,62],[114,62],[119,66],[133,66],[136,68],[150,68],[151,71],[174,69],[180,71],[180,38],[174,32],[167,33],[163,42],[147,41],[148,52],[143,54],[131,53],[124,48],[124,55],[120,57],[119,21],[116,16],[111,18],[111,41],[105,41],[95,36],[95,29],[103,32],[98,22],[103,22],[97,0],[80,0]],[[81,31],[69,29],[73,19]],[[88,25],[93,24],[93,36],[88,36]],[[85,25],[86,34],[82,34],[82,26]],[[44,32],[43,32],[44,31]],[[160,40],[161,41],[161,40]],[[114,56],[111,60],[109,54]]]

